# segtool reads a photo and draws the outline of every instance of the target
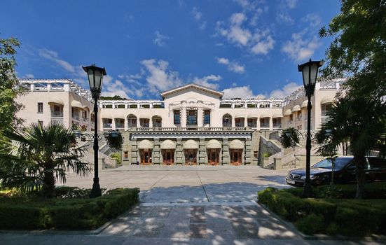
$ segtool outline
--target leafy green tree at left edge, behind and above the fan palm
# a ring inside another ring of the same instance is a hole
[[[0,140],[4,140],[6,130],[20,123],[16,113],[22,106],[14,100],[22,93],[15,76],[14,55],[19,46],[18,39],[0,39]]]

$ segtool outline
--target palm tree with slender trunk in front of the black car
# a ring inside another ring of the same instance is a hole
[[[319,155],[331,156],[340,144],[350,143],[356,167],[356,198],[364,195],[365,156],[371,150],[382,149],[385,144],[386,106],[380,100],[364,97],[338,97],[335,106],[327,113],[329,120],[322,124],[316,139]],[[331,130],[331,135],[324,132]]]

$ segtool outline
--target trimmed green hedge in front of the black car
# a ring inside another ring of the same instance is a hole
[[[386,200],[301,198],[302,188],[259,192],[259,202],[307,235],[386,235]]]

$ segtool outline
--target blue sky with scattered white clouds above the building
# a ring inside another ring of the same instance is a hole
[[[224,97],[285,97],[302,85],[297,64],[323,59],[320,27],[333,0],[6,1],[0,38],[22,43],[20,78],[71,78],[104,66],[104,95],[159,99],[185,83]]]

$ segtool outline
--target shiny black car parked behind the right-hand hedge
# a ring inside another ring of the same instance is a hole
[[[356,183],[354,157],[344,156],[335,158],[334,169],[331,159],[327,158],[310,169],[310,179],[313,186],[331,183],[333,172],[334,183]],[[366,157],[364,169],[366,181],[386,181],[386,160],[378,157]],[[304,186],[305,168],[288,172],[286,181],[290,186]]]

